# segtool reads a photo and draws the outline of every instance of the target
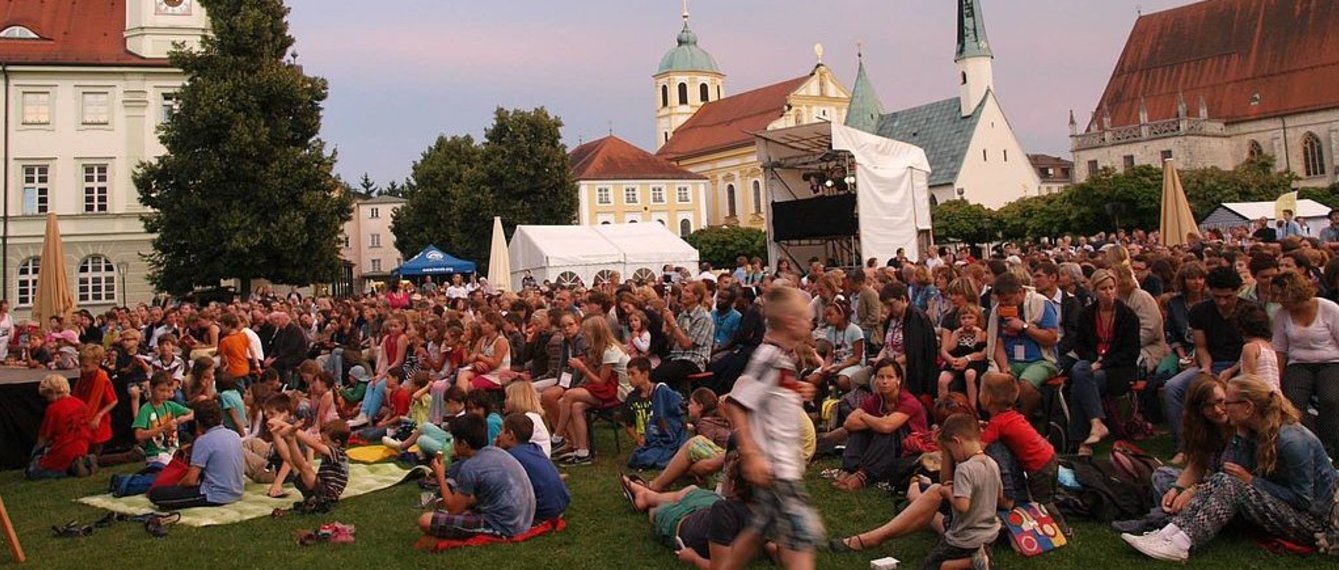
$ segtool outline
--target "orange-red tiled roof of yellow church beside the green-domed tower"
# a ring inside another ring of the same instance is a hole
[[[702,106],[656,153],[668,161],[714,153],[739,145],[753,145],[753,134],[786,112],[786,98],[809,80],[809,75],[759,87]]]

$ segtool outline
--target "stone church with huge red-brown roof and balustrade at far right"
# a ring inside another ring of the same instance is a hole
[[[1103,169],[1231,170],[1272,155],[1299,186],[1339,181],[1339,3],[1204,0],[1139,16],[1085,128],[1075,181]]]

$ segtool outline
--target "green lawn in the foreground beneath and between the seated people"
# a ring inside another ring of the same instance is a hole
[[[612,450],[608,428],[597,430],[599,448]],[[627,440],[624,439],[624,443]],[[1165,452],[1157,443],[1150,451]],[[564,470],[572,487],[573,503],[568,512],[568,530],[524,545],[497,545],[462,549],[441,554],[412,550],[418,539],[415,504],[416,484],[341,502],[321,516],[291,515],[284,519],[256,519],[240,525],[208,529],[174,527],[171,534],[154,539],[134,523],[116,523],[99,529],[90,538],[56,539],[52,525],[78,519],[91,523],[104,512],[75,503],[79,496],[102,492],[112,472],[133,467],[104,470],[83,480],[66,479],[29,483],[19,471],[0,472],[0,496],[4,498],[28,554],[27,567],[99,570],[143,566],[146,563],[177,569],[266,569],[277,567],[487,567],[487,569],[573,569],[636,567],[674,569],[680,565],[674,554],[651,538],[644,515],[635,514],[623,500],[617,472],[623,466],[612,456],[600,458],[595,466]],[[874,527],[893,515],[892,499],[869,488],[857,494],[833,491],[817,478],[823,463],[810,468],[809,488],[822,511],[829,535],[840,537]],[[358,526],[353,545],[297,546],[295,534],[324,522]],[[1074,543],[1059,551],[1023,559],[1008,549],[999,551],[1003,569],[1111,569],[1158,566],[1129,549],[1119,537],[1097,523],[1078,522]],[[933,547],[935,535],[924,533],[884,545],[866,553],[836,555],[822,553],[823,569],[864,569],[869,561],[893,555],[904,567],[916,569]],[[157,561],[157,562],[155,562]],[[12,562],[0,553],[0,566]],[[319,565],[319,566],[316,566]],[[766,567],[757,563],[757,567]],[[1334,569],[1334,558],[1273,555],[1239,534],[1225,534],[1205,551],[1192,558],[1189,567],[1202,569]],[[1166,567],[1176,567],[1166,565]]]

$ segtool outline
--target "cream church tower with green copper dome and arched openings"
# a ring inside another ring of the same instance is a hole
[[[656,86],[656,149],[703,104],[726,96],[726,75],[716,60],[698,47],[698,35],[688,28],[688,1],[683,4],[683,31],[678,45],[660,58],[652,76]]]

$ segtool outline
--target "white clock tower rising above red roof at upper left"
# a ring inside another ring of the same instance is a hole
[[[194,45],[209,29],[198,0],[126,0],[126,50],[167,58],[174,43]]]

